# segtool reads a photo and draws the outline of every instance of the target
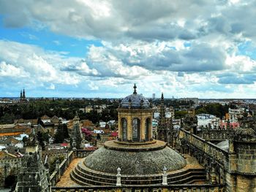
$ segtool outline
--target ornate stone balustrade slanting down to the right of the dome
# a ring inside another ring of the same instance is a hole
[[[186,142],[189,147],[195,147],[195,149],[200,150],[204,154],[208,155],[209,158],[213,159],[219,164],[225,165],[225,160],[228,158],[229,153],[221,148],[217,147],[211,142],[207,142],[206,139],[202,139],[195,134],[190,134],[189,131],[181,128],[180,139]]]

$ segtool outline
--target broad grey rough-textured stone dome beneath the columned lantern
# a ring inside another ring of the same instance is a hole
[[[127,146],[113,141],[105,142],[105,147],[100,147],[89,155],[84,164],[90,169],[108,174],[116,174],[118,167],[121,168],[122,174],[159,174],[164,167],[170,172],[182,169],[187,164],[185,159],[167,147],[165,142],[157,141],[138,147]]]

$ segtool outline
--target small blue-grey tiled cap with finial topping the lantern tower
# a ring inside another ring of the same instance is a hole
[[[120,108],[132,108],[132,109],[149,109],[151,108],[148,99],[138,94],[136,91],[136,85],[134,86],[135,91],[132,95],[125,97],[120,104]]]

